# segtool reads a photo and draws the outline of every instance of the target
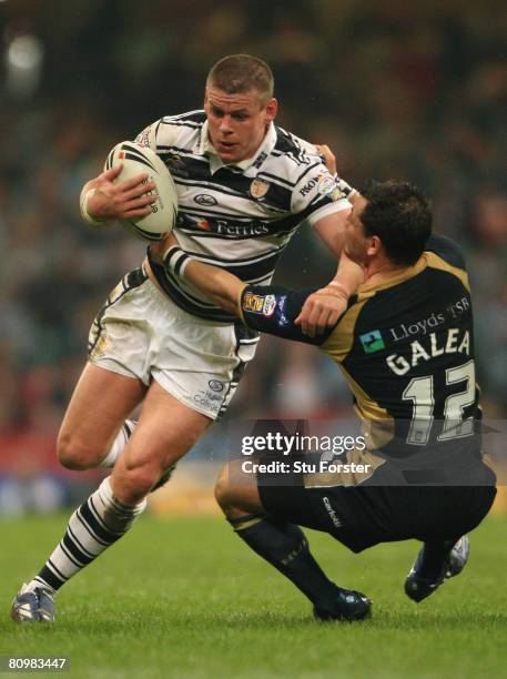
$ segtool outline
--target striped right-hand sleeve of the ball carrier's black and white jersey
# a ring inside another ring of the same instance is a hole
[[[327,170],[320,155],[307,155],[294,186],[291,211],[301,214],[312,226],[322,217],[351,207],[348,196],[354,189]]]

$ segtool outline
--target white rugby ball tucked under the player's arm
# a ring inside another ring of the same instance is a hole
[[[162,240],[173,230],[178,215],[178,193],[171,173],[154,151],[131,141],[120,142],[111,150],[104,170],[110,170],[120,163],[123,170],[118,175],[116,182],[145,172],[148,178],[143,183],[154,182],[155,190],[146,191],[142,195],[156,193],[159,196],[154,203],[149,205],[151,214],[132,220],[120,220],[121,224],[143,241]]]

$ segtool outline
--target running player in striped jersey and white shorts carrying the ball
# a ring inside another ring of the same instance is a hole
[[[138,142],[151,146],[178,188],[175,232],[184,249],[249,284],[271,282],[295,230],[306,222],[334,256],[354,191],[315,146],[274,124],[266,63],[225,57],[210,71],[204,110],[162,118]],[[145,175],[121,168],[89,181],[83,217],[94,225],[148,214]],[[336,274],[348,292],[361,271]],[[300,317],[308,335],[337,320],[335,298],[312,295]],[[37,576],[17,595],[16,620],[52,620],[53,597],[133,524],[146,495],[227,408],[258,334],[237,323],[149,252],[97,315],[89,361],[67,409],[58,456],[70,469],[112,474],[77,509]],[[138,423],[129,419],[143,403]]]

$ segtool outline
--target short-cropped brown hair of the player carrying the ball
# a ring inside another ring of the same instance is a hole
[[[273,97],[273,72],[265,61],[250,54],[224,57],[211,69],[206,87],[227,94],[243,94],[256,90],[263,104]]]

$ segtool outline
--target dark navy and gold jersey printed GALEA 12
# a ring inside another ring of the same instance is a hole
[[[369,450],[478,455],[470,291],[456,243],[432,236],[414,266],[363,285],[335,327],[314,338],[294,324],[312,292],[249,285],[244,322],[318,345],[333,358],[354,395]]]

